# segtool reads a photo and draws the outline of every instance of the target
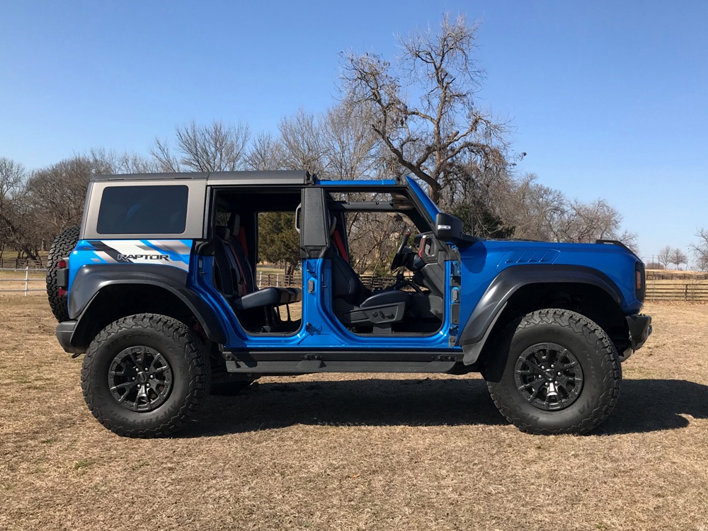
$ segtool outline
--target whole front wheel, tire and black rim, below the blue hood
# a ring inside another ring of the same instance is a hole
[[[499,411],[527,433],[581,434],[599,426],[622,381],[605,331],[564,309],[538,310],[517,322],[502,334],[488,370],[496,375],[487,386]]]

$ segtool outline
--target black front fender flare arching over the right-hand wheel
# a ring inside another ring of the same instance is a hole
[[[457,344],[462,347],[462,362],[471,365],[479,354],[509,299],[521,287],[530,284],[587,284],[600,288],[622,306],[619,287],[602,271],[585,265],[514,265],[499,273],[487,287],[467,319]]]

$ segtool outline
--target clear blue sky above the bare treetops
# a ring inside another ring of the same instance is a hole
[[[708,227],[705,1],[4,1],[0,156],[147,154],[188,120],[275,130],[336,98],[338,52],[396,53],[443,11],[482,22],[481,105],[520,171],[609,200],[641,255]]]

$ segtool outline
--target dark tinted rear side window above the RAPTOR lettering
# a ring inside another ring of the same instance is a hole
[[[103,190],[98,234],[182,234],[187,222],[188,188],[111,186]]]

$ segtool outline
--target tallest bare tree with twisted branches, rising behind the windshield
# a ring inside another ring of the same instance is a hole
[[[372,111],[372,130],[435,202],[450,179],[474,178],[470,160],[480,169],[506,164],[505,127],[474,102],[484,79],[473,57],[476,30],[464,16],[453,21],[445,14],[437,33],[399,36],[395,66],[375,54],[343,59],[345,97]]]

